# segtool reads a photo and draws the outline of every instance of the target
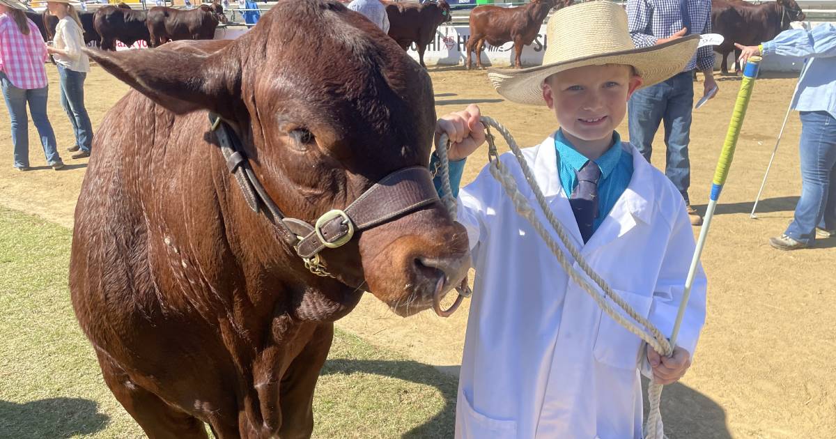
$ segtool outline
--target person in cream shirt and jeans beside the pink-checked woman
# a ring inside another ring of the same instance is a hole
[[[70,125],[73,125],[75,145],[68,151],[77,151],[74,159],[90,156],[93,145],[93,125],[84,108],[84,79],[90,71],[90,60],[84,54],[84,30],[79,14],[69,4],[69,0],[51,0],[47,2],[49,13],[59,18],[55,27],[53,45],[47,48],[58,66],[61,81],[61,106],[67,113]],[[80,150],[80,151],[79,151]]]

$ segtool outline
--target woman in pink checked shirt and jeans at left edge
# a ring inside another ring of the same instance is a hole
[[[55,147],[55,133],[47,117],[48,84],[43,63],[47,48],[38,27],[26,18],[26,7],[17,0],[0,0],[0,89],[12,125],[14,167],[29,168],[29,133],[26,104],[38,128],[47,164],[64,167]]]

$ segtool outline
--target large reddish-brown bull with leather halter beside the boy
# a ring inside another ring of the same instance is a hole
[[[280,1],[232,41],[88,53],[135,89],[75,210],[69,286],[104,381],[151,438],[310,436],[334,320],[364,290],[414,314],[468,267],[426,170],[429,75],[333,0]]]

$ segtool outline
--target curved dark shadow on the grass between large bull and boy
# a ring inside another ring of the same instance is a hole
[[[423,425],[407,431],[405,438],[450,437],[456,421],[456,391],[458,380],[454,376],[442,374],[431,365],[424,365],[411,360],[328,360],[321,375],[351,375],[364,373],[389,376],[422,385],[431,385],[441,392],[444,407]]]

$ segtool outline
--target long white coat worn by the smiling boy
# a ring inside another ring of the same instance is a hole
[[[665,175],[632,145],[623,147],[633,156],[630,185],[585,246],[560,185],[553,136],[523,155],[549,207],[574,244],[583,246],[590,266],[670,336],[695,248],[691,223],[681,195]],[[508,153],[501,160],[548,227],[516,159]],[[644,343],[568,280],[487,166],[461,188],[458,203],[477,274],[461,362],[456,437],[640,438],[638,367],[645,358]],[[677,341],[691,354],[705,312],[706,278],[700,269]],[[644,363],[645,374],[650,373]]]

